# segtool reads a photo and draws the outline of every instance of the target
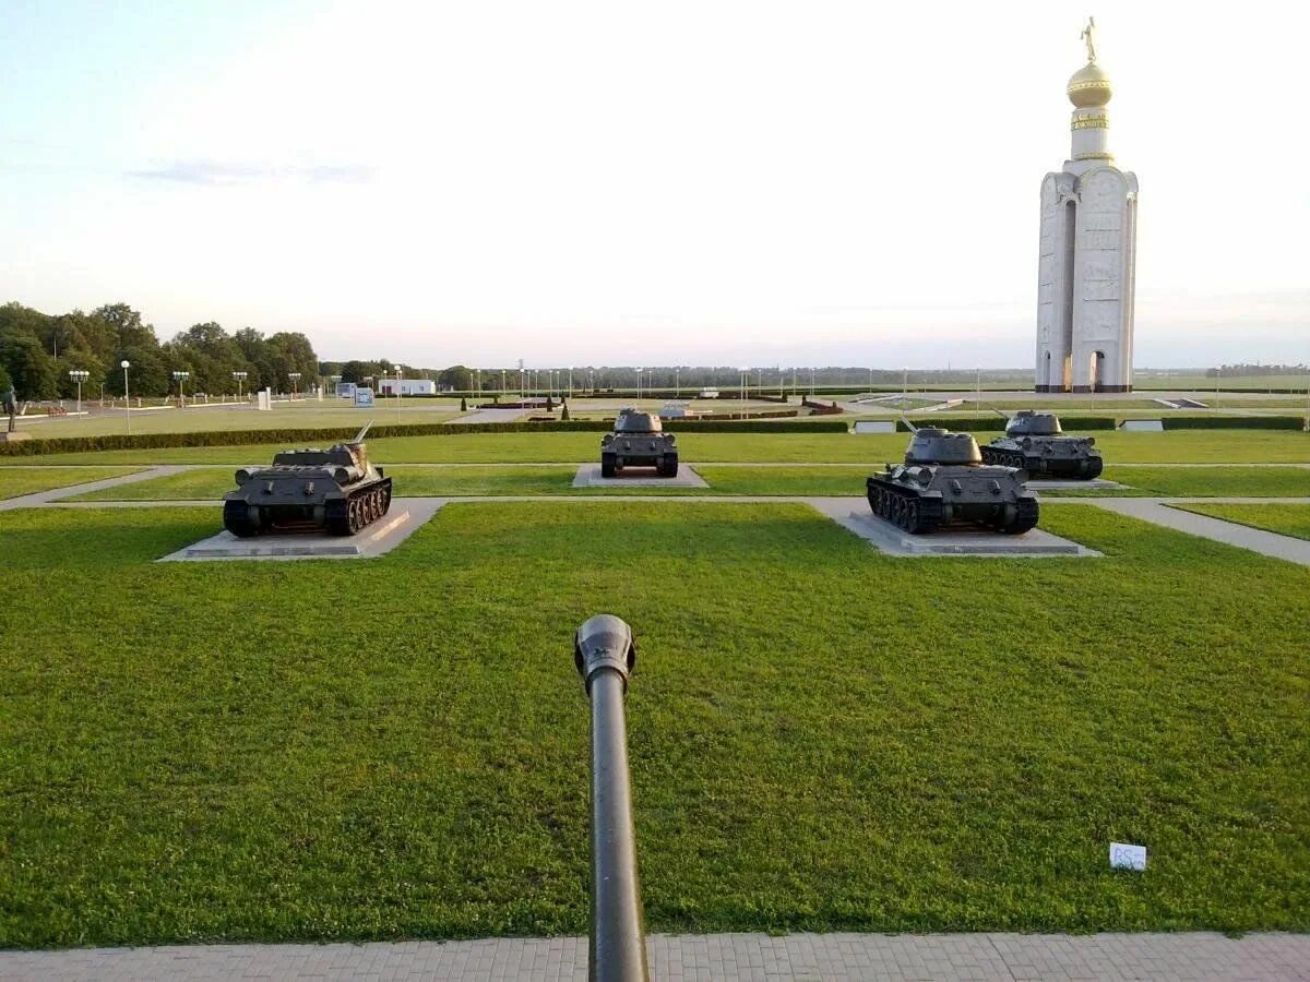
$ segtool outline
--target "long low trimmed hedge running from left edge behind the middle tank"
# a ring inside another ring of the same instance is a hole
[[[845,433],[842,422],[817,422],[800,426],[794,422],[748,419],[743,422],[671,419],[664,428],[673,432],[701,433]],[[600,419],[552,420],[549,423],[421,423],[417,426],[380,426],[368,431],[368,439],[394,436],[458,436],[461,433],[608,433],[610,423]],[[244,446],[248,444],[280,444],[305,446],[316,443],[348,440],[355,427],[320,429],[217,429],[198,433],[136,433],[132,436],[67,436],[47,440],[22,440],[0,444],[0,456],[38,457],[47,453],[90,453],[96,450],[149,450],[172,446]]]

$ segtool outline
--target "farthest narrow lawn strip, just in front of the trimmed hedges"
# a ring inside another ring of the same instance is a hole
[[[688,464],[852,464],[899,461],[908,433],[680,433]],[[1070,431],[1073,432],[1073,431]],[[997,433],[979,433],[982,443]],[[580,464],[599,462],[600,433],[455,433],[369,440],[381,464]],[[1115,464],[1310,464],[1310,433],[1294,431],[1174,431],[1095,433],[1096,446]],[[5,464],[262,464],[278,445],[176,446],[143,450],[0,457]]]

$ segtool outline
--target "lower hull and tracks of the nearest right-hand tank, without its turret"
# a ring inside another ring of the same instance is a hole
[[[951,525],[981,525],[1019,536],[1038,524],[1038,496],[1023,487],[1023,473],[1009,467],[927,466],[926,481],[897,471],[866,482],[874,515],[914,536]]]

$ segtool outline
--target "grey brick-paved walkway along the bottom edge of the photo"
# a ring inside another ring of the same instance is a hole
[[[1310,979],[1310,936],[654,935],[655,979]],[[587,978],[586,937],[3,952],[5,979]]]

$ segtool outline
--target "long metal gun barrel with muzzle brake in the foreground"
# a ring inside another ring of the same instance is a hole
[[[646,939],[627,773],[624,697],[637,661],[631,628],[597,614],[578,628],[578,670],[591,697],[590,977],[646,982]]]

